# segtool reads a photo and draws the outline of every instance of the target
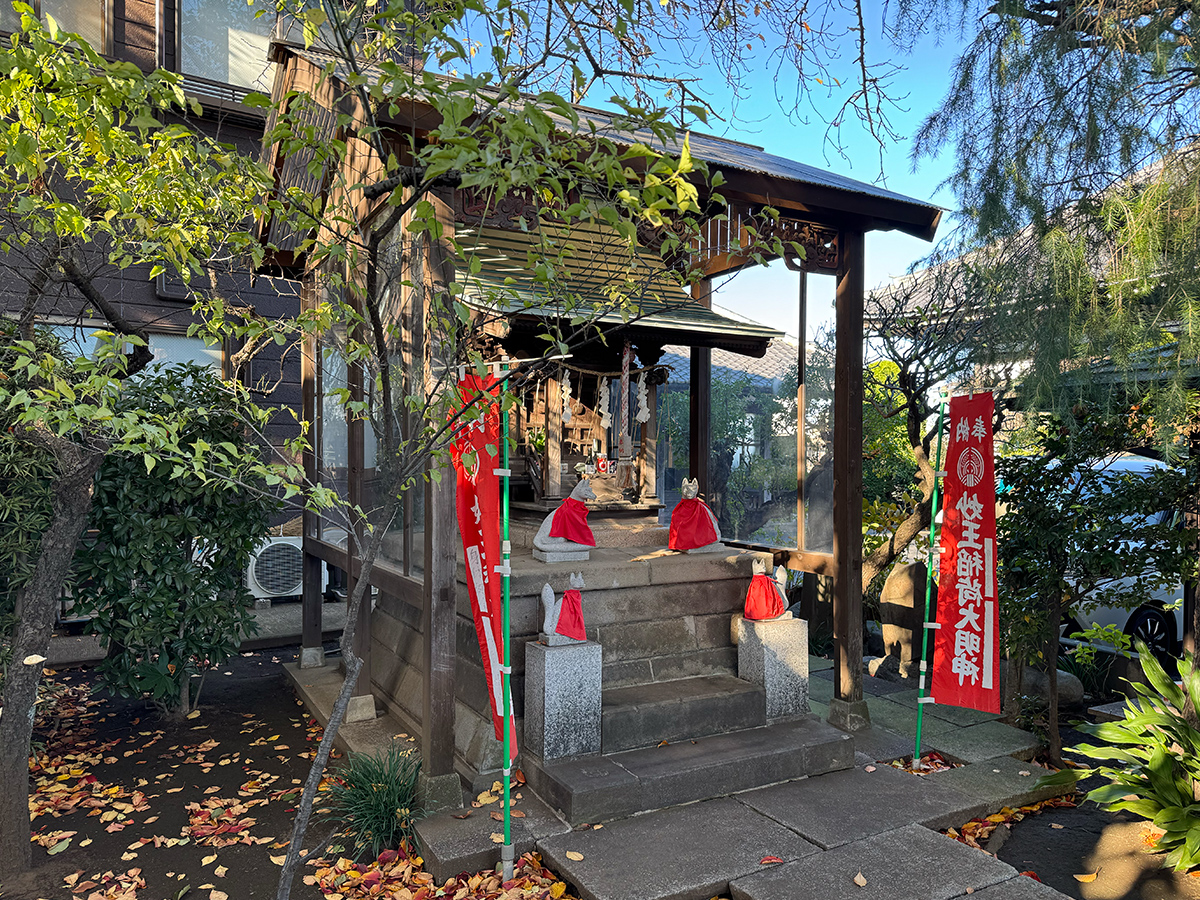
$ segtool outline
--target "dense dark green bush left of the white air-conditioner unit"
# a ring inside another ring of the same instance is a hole
[[[91,536],[77,558],[77,599],[108,638],[100,667],[107,686],[185,715],[199,702],[204,674],[253,632],[242,572],[277,502],[250,475],[259,449],[242,426],[248,401],[210,370],[150,371],[126,394],[139,409],[186,420],[180,443],[203,451],[206,464],[168,455],[104,461]]]

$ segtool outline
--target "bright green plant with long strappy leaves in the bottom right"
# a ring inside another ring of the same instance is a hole
[[[1181,688],[1140,641],[1138,653],[1150,684],[1132,684],[1139,696],[1130,697],[1122,720],[1079,726],[1106,746],[1074,748],[1116,764],[1062,769],[1038,784],[1074,784],[1103,775],[1109,784],[1088,792],[1087,798],[1108,810],[1128,810],[1162,828],[1165,834],[1157,848],[1165,853],[1164,865],[1187,871],[1200,865],[1200,731],[1184,710],[1200,708],[1200,671],[1193,668],[1190,659],[1180,660]]]

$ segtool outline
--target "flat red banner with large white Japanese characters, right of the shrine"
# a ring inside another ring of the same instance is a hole
[[[940,704],[985,713],[1000,712],[994,410],[991,394],[950,398],[930,689]]]

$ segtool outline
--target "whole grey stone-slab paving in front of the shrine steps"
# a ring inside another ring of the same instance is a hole
[[[829,666],[812,659],[810,671],[814,712],[823,714],[832,695]],[[925,746],[968,764],[911,775],[877,761],[912,752],[916,692],[866,680],[872,727],[853,736],[854,768],[577,830],[526,788],[516,804],[529,810],[516,832],[517,852],[536,847],[584,900],[1064,896],[934,830],[1061,792],[1036,788],[1045,770],[1018,758],[1033,754],[1036,739],[997,716],[929,706]],[[421,822],[418,833],[434,877],[494,862],[486,836],[492,824],[482,816]],[[768,857],[782,862],[764,863]],[[865,884],[856,882],[859,874]]]

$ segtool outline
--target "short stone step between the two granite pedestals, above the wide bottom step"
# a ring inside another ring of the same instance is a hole
[[[731,674],[611,688],[601,700],[605,754],[767,724],[763,689]]]

